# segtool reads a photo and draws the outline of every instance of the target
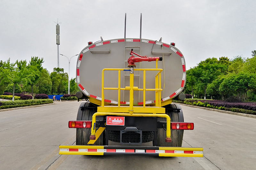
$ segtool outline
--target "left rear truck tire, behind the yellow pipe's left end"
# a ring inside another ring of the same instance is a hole
[[[88,107],[88,108],[81,109],[81,107]],[[97,106],[95,104],[83,102],[81,103],[78,109],[76,120],[91,121],[92,115],[96,112],[97,112]],[[99,116],[96,117],[96,120],[98,119],[99,119]],[[98,140],[94,143],[94,145],[103,145],[103,133],[100,135]],[[90,135],[91,135],[91,128],[77,128],[76,129],[76,145],[87,145],[87,143],[90,140]]]

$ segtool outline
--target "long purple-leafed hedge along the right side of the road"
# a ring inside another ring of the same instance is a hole
[[[228,102],[222,100],[198,100],[201,102],[208,102],[210,105],[213,106],[223,106],[228,108],[241,108],[246,110],[253,110],[256,111],[256,102],[246,102],[246,103],[238,103],[238,102]]]

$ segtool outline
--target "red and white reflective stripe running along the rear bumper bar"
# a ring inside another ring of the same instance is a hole
[[[144,150],[144,149],[66,149],[60,152],[114,152],[114,153],[177,153],[177,154],[203,154],[203,151],[176,151],[176,150]]]

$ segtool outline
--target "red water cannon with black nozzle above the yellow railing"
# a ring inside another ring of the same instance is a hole
[[[132,56],[127,60],[128,67],[136,67],[135,63],[142,62],[142,61],[151,62],[151,61],[156,61],[157,59],[158,59],[158,61],[163,60],[163,57],[148,57],[147,55],[144,55],[144,56],[138,55],[139,57],[134,57],[133,54],[138,55],[133,52],[133,49],[131,50],[130,55],[132,55]]]

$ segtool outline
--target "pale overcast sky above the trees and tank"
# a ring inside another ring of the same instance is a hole
[[[56,24],[60,24],[60,54],[79,54],[88,41],[140,37],[175,42],[187,70],[209,57],[243,55],[256,50],[255,0],[1,0],[0,60],[44,58],[43,67],[57,67]],[[60,55],[60,68],[68,60]],[[70,77],[76,76],[76,57]]]

